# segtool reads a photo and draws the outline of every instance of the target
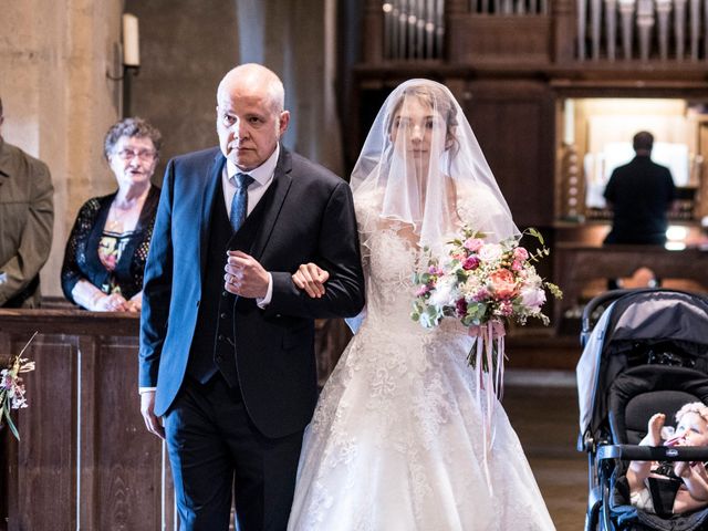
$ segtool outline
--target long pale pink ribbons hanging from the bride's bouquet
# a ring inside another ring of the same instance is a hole
[[[494,406],[497,397],[501,399],[503,394],[504,376],[504,325],[501,321],[489,321],[485,324],[470,326],[469,335],[475,339],[475,378],[477,385],[477,404],[483,413],[482,442],[485,445],[482,465],[487,476],[489,492],[493,493],[491,473],[489,472],[489,454],[494,445],[496,429],[493,427]],[[497,343],[494,345],[494,342]],[[496,348],[494,348],[496,346]],[[496,360],[494,360],[494,350]],[[496,361],[496,364],[494,364]],[[487,365],[485,371],[483,364]],[[481,393],[487,395],[487,408],[482,406]]]

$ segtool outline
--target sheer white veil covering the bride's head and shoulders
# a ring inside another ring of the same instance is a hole
[[[386,98],[351,186],[355,202],[373,204],[379,221],[408,223],[421,247],[440,249],[464,223],[489,242],[519,237],[462,108],[429,80],[409,80]]]

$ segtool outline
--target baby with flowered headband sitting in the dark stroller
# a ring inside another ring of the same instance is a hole
[[[639,445],[708,447],[708,407],[685,404],[676,413],[676,430],[662,437],[666,416],[649,418]],[[670,430],[664,428],[664,434]],[[656,514],[679,514],[708,507],[708,472],[704,462],[631,461],[626,479],[631,503]]]

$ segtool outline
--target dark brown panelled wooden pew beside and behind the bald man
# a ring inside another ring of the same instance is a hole
[[[321,384],[348,341],[317,321]],[[1,310],[0,367],[24,357],[29,407],[18,442],[0,431],[0,530],[176,529],[169,461],[139,412],[139,320],[123,313]]]

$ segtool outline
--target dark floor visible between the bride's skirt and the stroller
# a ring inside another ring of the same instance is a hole
[[[575,450],[577,395],[572,373],[509,373],[507,409],[558,531],[582,531],[586,455]]]

